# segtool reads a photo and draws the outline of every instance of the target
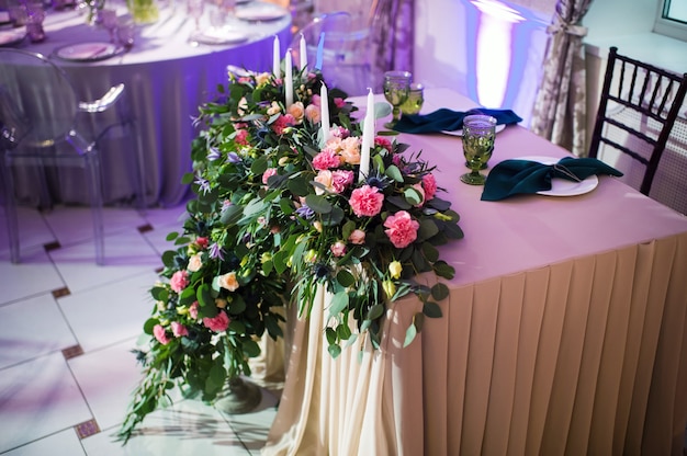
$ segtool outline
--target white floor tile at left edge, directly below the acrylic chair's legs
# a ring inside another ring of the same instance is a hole
[[[0,305],[63,288],[65,282],[43,248],[21,251],[21,263],[0,261]]]

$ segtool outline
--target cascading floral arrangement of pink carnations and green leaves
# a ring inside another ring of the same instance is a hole
[[[318,287],[331,295],[324,328],[331,356],[358,339],[379,346],[385,304],[409,293],[424,309],[406,344],[425,316],[441,316],[436,301],[448,288],[416,277],[452,277],[437,246],[463,233],[459,215],[438,196],[433,168],[380,135],[362,174],[356,106],[337,89],[320,98],[318,71],[299,71],[294,80],[286,106],[281,78],[236,70],[228,88],[218,88],[221,98],[200,107],[193,173],[184,178],[196,198],[183,232],[169,237],[181,247],[162,256],[167,281],[151,289],[150,347],[138,353],[146,376],[124,440],[174,380],[211,401],[227,378],[249,374],[256,338],[281,334],[274,307],[290,301],[306,317]]]

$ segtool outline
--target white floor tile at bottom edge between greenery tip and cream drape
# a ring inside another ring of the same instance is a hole
[[[125,446],[115,442],[116,429],[82,441],[89,456],[249,456],[229,424],[212,407],[187,400],[146,417],[138,435]]]

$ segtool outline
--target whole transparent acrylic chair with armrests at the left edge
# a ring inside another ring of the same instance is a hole
[[[0,169],[11,261],[20,261],[14,171],[22,167],[37,169],[43,201],[48,193],[44,168],[78,167],[86,171],[95,262],[104,264],[100,147],[115,129],[132,140],[132,147],[121,150],[122,160],[132,173],[138,206],[144,207],[137,135],[125,109],[124,84],[112,87],[99,100],[83,102],[65,71],[40,54],[0,48]]]

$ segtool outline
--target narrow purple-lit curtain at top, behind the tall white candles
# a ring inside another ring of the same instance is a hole
[[[384,71],[413,70],[415,0],[375,0],[372,9],[372,83],[379,92]]]

